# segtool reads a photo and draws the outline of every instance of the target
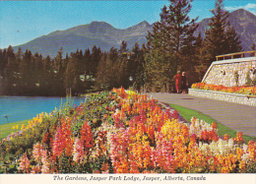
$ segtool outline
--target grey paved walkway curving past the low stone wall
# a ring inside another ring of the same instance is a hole
[[[147,93],[161,102],[174,103],[211,116],[232,130],[256,137],[256,107],[183,93]]]

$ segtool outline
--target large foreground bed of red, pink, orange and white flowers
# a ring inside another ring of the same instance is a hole
[[[124,89],[87,98],[74,109],[34,118],[2,141],[4,172],[227,173],[256,171],[256,143],[218,136],[212,125],[177,120],[145,94]],[[9,157],[9,159],[7,159]]]

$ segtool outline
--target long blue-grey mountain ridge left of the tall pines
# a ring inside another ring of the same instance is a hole
[[[94,45],[99,46],[101,50],[108,51],[112,46],[119,48],[122,40],[126,40],[128,48],[131,49],[136,41],[140,45],[146,42],[146,35],[151,29],[152,26],[146,21],[125,30],[115,29],[104,22],[92,22],[66,31],[50,32],[25,44],[15,46],[14,50],[21,47],[22,50],[30,49],[32,53],[38,52],[43,56],[54,57],[60,47],[65,53],[74,52],[77,49],[85,50]]]

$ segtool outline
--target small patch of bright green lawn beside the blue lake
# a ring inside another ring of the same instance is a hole
[[[26,127],[29,124],[30,120],[31,119],[18,121],[18,122],[14,122],[14,123],[1,124],[0,125],[0,140],[5,138],[6,136],[10,135],[12,132],[20,131],[22,128],[22,125],[24,124]],[[17,129],[17,125],[18,125],[18,129]],[[14,126],[15,126],[15,129],[13,129]]]

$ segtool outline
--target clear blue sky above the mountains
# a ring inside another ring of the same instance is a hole
[[[109,1],[0,1],[0,48],[16,46],[52,31],[64,31],[93,21],[127,29],[160,21],[166,0]],[[212,17],[215,0],[194,0],[189,13],[198,21]],[[256,0],[224,0],[229,12],[243,8],[256,15]]]

